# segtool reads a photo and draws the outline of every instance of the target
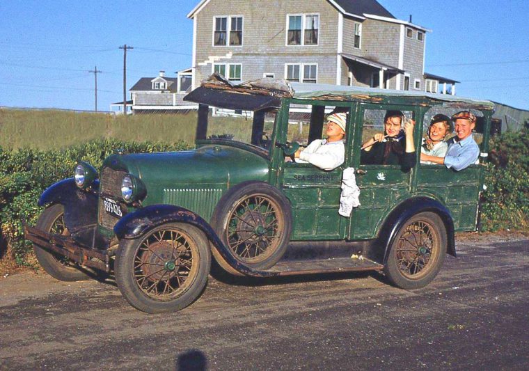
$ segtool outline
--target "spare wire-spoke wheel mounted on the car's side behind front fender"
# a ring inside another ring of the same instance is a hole
[[[268,183],[237,184],[219,200],[212,227],[232,258],[252,269],[269,269],[281,260],[290,242],[290,203]],[[215,248],[212,251],[221,267],[238,274]]]

